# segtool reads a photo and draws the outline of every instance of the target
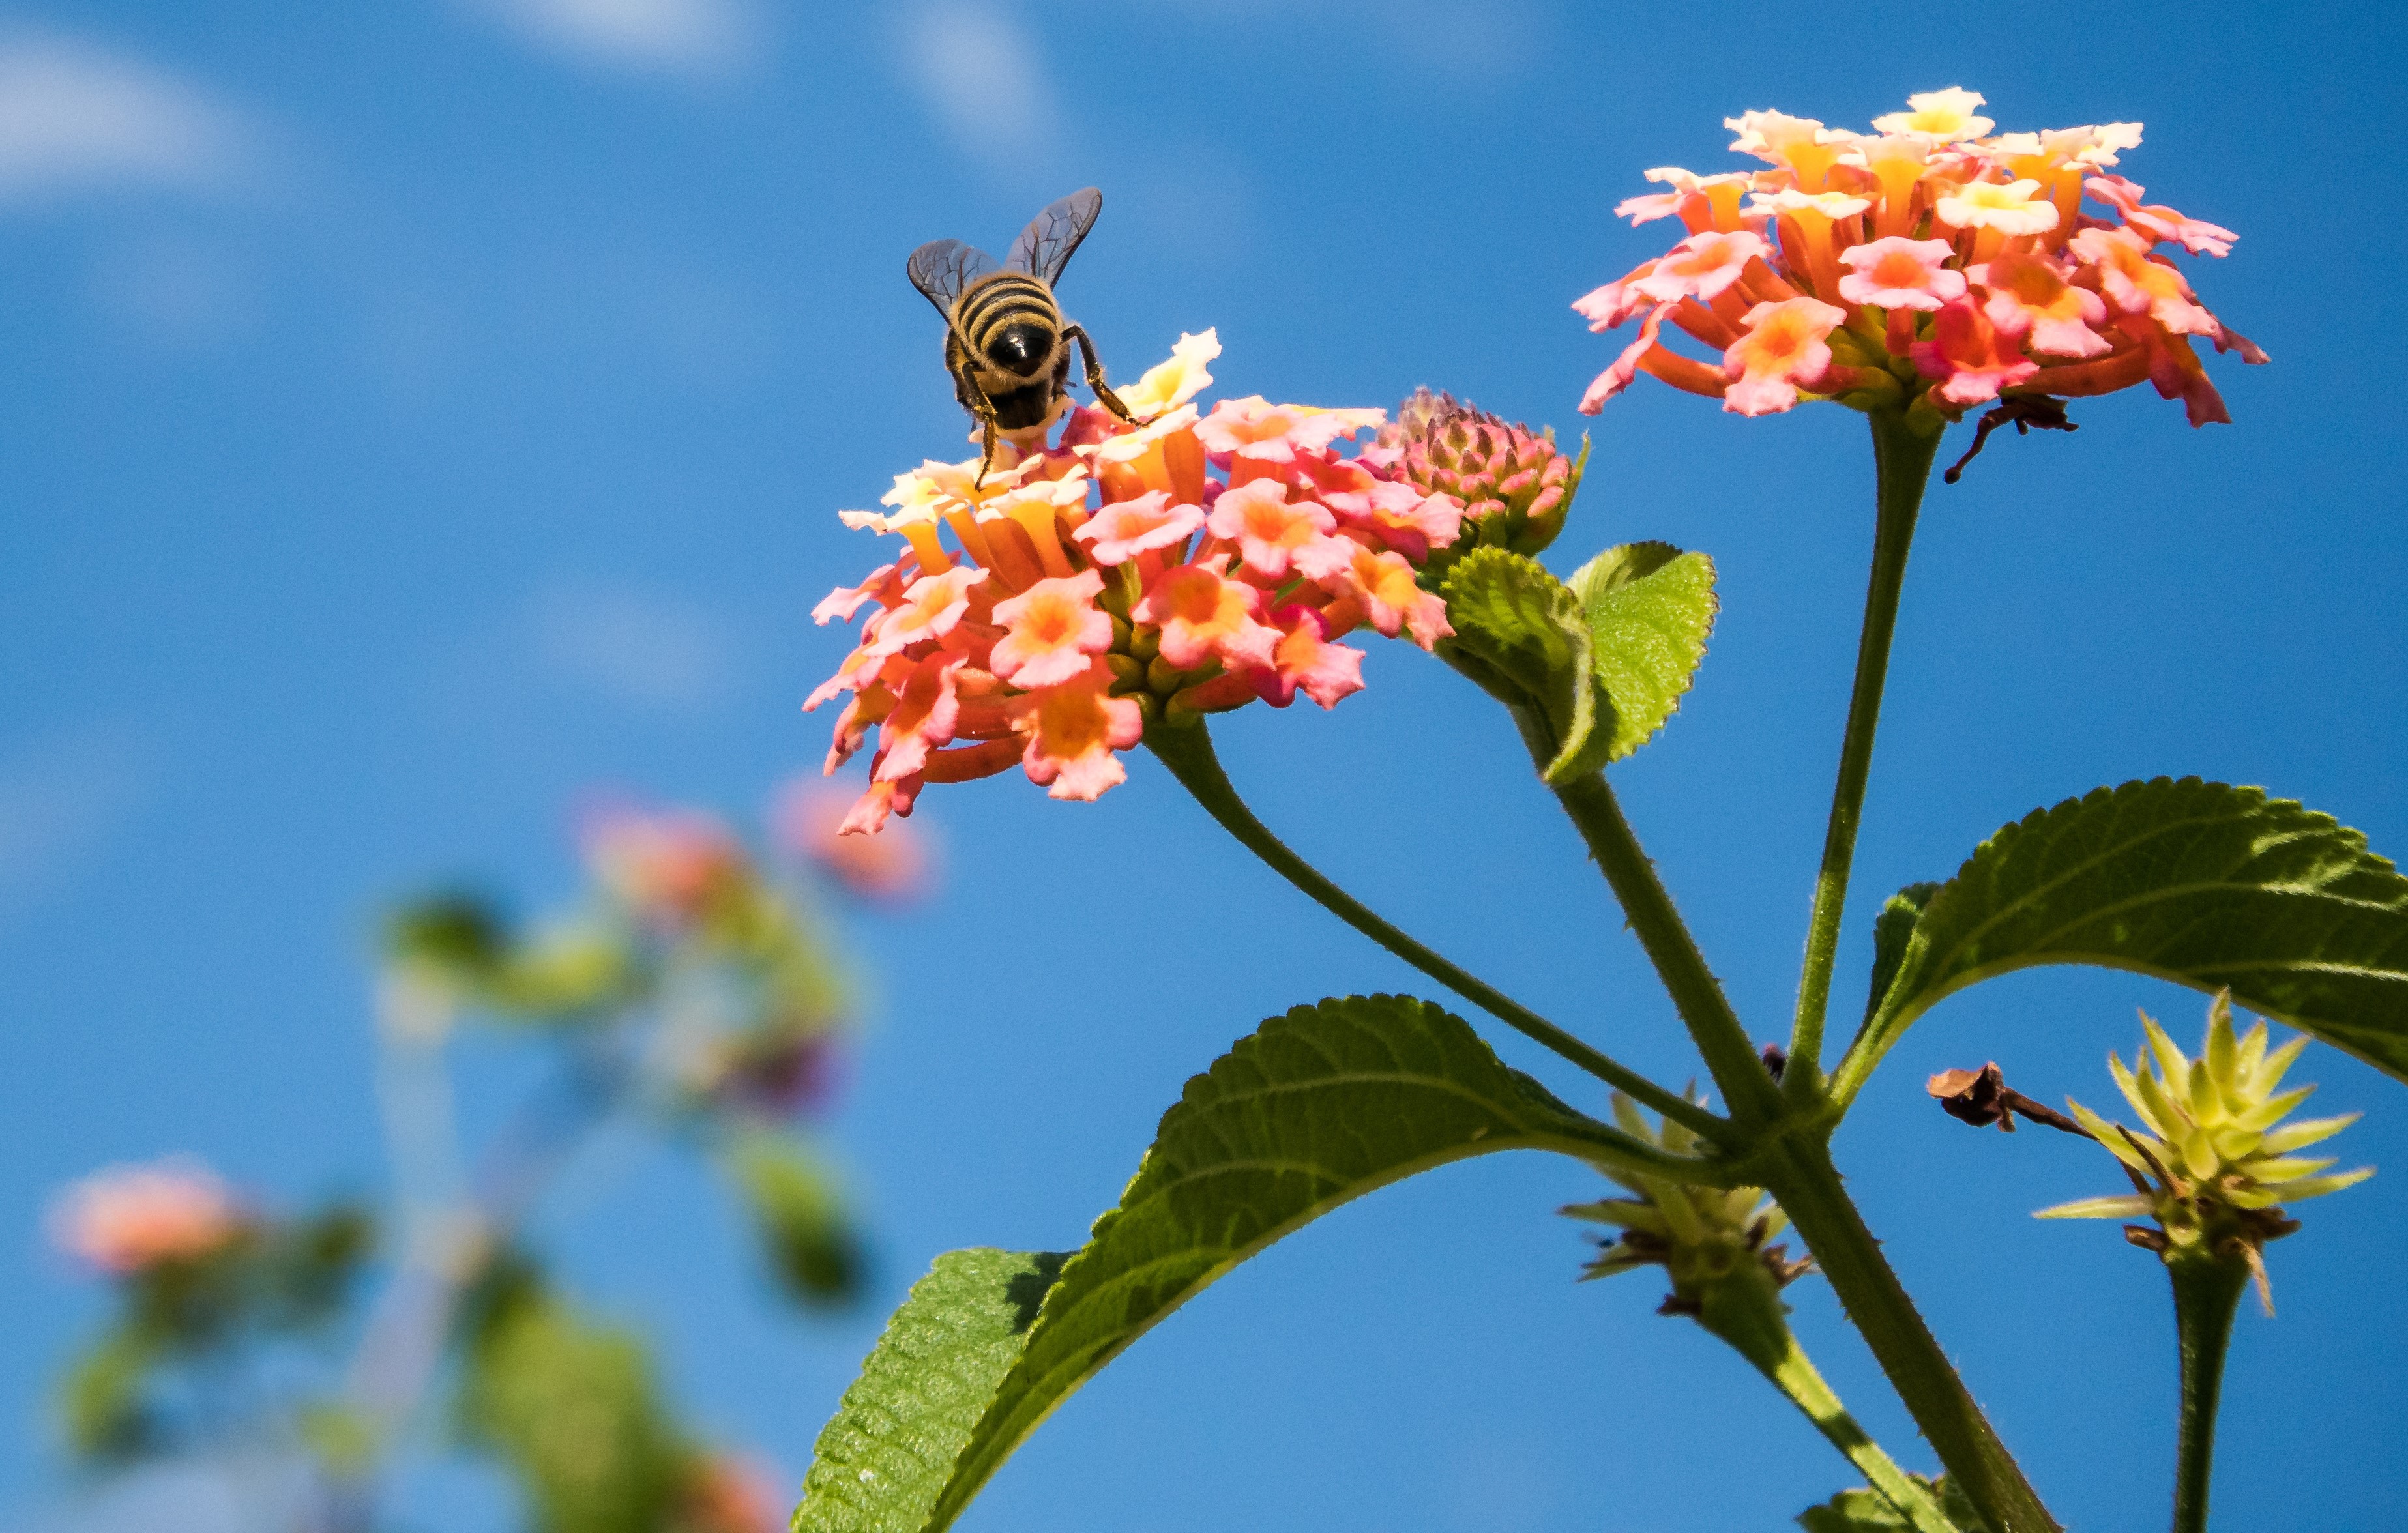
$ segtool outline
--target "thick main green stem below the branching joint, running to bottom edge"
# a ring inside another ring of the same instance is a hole
[[[1890,1377],[1898,1398],[1982,1521],[1994,1533],[2056,1533],[2049,1509],[2040,1504],[2015,1458],[1948,1365],[1914,1300],[1883,1259],[1881,1242],[1864,1227],[1840,1184],[1840,1172],[1832,1170],[1830,1150],[1818,1138],[1792,1136],[1770,1148],[1758,1174],[1813,1251],[1847,1319],[1864,1333],[1881,1372]]]

